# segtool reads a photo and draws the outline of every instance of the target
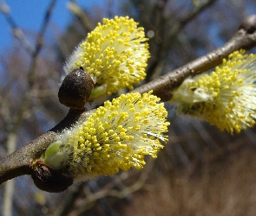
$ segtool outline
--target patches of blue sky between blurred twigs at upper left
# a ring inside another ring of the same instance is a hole
[[[28,31],[38,31],[43,23],[43,15],[51,0],[5,0],[10,7],[10,14],[18,27]],[[56,26],[56,31],[62,31],[69,24],[71,14],[67,9],[68,0],[59,0],[56,3],[50,22]],[[114,1],[115,2],[115,1]],[[1,3],[1,1],[0,1]],[[77,0],[82,7],[93,10],[95,5],[104,7],[106,0]],[[0,54],[13,43],[10,25],[3,14],[0,14]]]

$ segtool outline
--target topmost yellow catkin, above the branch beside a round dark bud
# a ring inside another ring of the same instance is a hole
[[[150,55],[143,30],[128,16],[103,19],[75,49],[65,72],[83,67],[95,80],[95,86],[104,86],[102,95],[124,87],[133,89],[132,85],[145,78]]]

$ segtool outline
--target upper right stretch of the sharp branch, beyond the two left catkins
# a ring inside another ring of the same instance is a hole
[[[249,17],[251,17],[251,19],[249,19]],[[158,79],[154,79],[146,85],[136,88],[133,92],[144,93],[153,90],[154,95],[161,98],[162,101],[168,101],[172,98],[172,92],[174,89],[180,86],[182,81],[188,76],[194,76],[196,74],[206,72],[207,70],[219,65],[221,61],[228,56],[228,54],[233,53],[235,50],[248,50],[255,47],[256,15],[249,17],[246,21],[253,20],[251,25],[246,26],[246,24],[243,23],[243,28],[241,28],[233,38],[226,42],[222,47],[217,48],[213,50],[213,52],[193,60],[182,67],[178,67],[174,71],[169,72]]]

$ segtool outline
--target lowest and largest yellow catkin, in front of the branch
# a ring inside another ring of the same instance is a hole
[[[144,156],[155,158],[167,142],[167,111],[159,100],[148,92],[122,94],[105,102],[83,124],[65,131],[56,142],[57,154],[56,148],[53,154],[48,150],[51,160],[44,162],[73,177],[141,169]]]

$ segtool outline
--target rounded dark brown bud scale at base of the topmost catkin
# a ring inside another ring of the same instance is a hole
[[[94,80],[82,67],[70,72],[62,81],[58,97],[62,105],[82,110],[95,86]]]

